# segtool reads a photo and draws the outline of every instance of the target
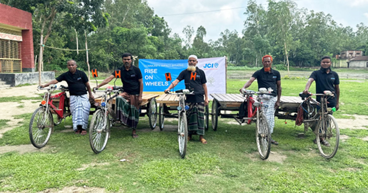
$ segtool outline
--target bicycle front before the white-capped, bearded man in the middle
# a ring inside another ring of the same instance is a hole
[[[176,94],[179,96],[178,110],[178,143],[179,143],[179,153],[181,158],[185,157],[187,151],[188,143],[188,122],[186,111],[189,110],[189,106],[185,105],[185,95],[193,94],[194,91],[189,89],[177,90],[175,93],[168,91],[166,94]]]

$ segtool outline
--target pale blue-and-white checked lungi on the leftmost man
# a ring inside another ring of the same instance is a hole
[[[89,103],[87,94],[70,96],[70,111],[74,131],[77,131],[77,125],[82,125],[82,129],[87,129],[90,108],[91,103]]]

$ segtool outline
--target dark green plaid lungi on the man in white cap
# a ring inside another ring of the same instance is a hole
[[[187,111],[188,134],[205,135],[205,103],[185,103]]]

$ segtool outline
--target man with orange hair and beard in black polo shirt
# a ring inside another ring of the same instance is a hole
[[[259,97],[262,99],[262,110],[265,112],[267,124],[271,133],[273,133],[273,126],[275,125],[275,109],[280,107],[281,77],[279,71],[271,68],[272,56],[263,56],[262,64],[263,68],[254,72],[252,77],[244,84],[240,91],[251,86],[255,79],[257,79],[258,82],[258,89],[268,89],[269,93],[261,94]],[[279,144],[273,139],[271,139],[271,143],[275,145]]]

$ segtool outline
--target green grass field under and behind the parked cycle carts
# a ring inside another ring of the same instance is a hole
[[[228,79],[227,92],[238,93],[245,80]],[[282,94],[298,96],[306,79],[282,79]],[[119,83],[121,84],[121,83]],[[315,85],[311,91],[315,90]],[[250,89],[256,90],[256,82]],[[334,116],[368,115],[368,82],[340,83],[340,110]],[[6,105],[11,99],[0,99]],[[0,146],[30,144],[28,124],[32,112],[20,115],[21,126],[4,133]],[[345,115],[347,114],[347,115]],[[0,120],[0,129],[8,120]],[[368,143],[361,138],[368,130],[341,129],[334,158],[319,156],[311,131],[297,134],[303,126],[277,120],[268,161],[258,156],[255,125],[236,125],[233,119],[219,119],[218,130],[205,133],[208,144],[198,136],[188,142],[187,156],[178,153],[177,121],[166,121],[164,131],[150,131],[148,118],[141,118],[138,139],[131,130],[113,127],[106,149],[94,154],[88,136],[64,132],[71,118],[54,128],[42,151],[0,154],[0,192],[38,192],[68,186],[102,187],[107,192],[270,192],[270,193],[364,193],[368,192]],[[348,121],[354,121],[349,119]],[[367,124],[368,125],[368,124]],[[210,124],[211,128],[211,124]],[[119,160],[126,159],[121,162]]]

